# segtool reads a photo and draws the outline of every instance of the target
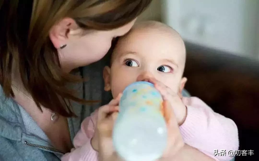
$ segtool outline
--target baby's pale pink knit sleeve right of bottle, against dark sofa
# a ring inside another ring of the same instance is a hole
[[[215,113],[197,97],[183,98],[187,107],[187,117],[180,126],[184,142],[197,148],[215,160],[231,160],[229,150],[238,150],[238,129],[234,121]],[[225,150],[223,156],[214,156],[214,150]]]

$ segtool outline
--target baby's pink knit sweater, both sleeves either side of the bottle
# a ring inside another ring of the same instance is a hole
[[[215,113],[197,97],[183,98],[187,107],[185,122],[179,127],[183,140],[189,146],[197,148],[215,160],[231,160],[227,152],[238,150],[238,129],[229,118]],[[98,161],[98,152],[91,146],[97,122],[97,111],[87,117],[81,124],[81,130],[74,138],[74,146],[65,154],[62,161]],[[226,156],[214,156],[214,150],[226,150]]]

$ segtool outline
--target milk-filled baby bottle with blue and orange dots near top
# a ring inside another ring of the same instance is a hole
[[[162,96],[149,82],[135,82],[123,91],[113,127],[113,146],[127,161],[160,158],[167,144]]]

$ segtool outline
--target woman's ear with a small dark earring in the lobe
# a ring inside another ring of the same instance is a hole
[[[64,18],[56,23],[49,31],[49,38],[51,39],[56,49],[68,44],[69,35],[75,35],[82,29],[77,25],[75,20],[71,18]]]

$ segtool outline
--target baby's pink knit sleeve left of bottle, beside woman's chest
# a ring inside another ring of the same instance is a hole
[[[85,118],[81,124],[80,131],[76,134],[70,153],[62,156],[61,161],[98,161],[98,152],[91,146],[91,139],[97,122],[97,110],[91,116]]]

